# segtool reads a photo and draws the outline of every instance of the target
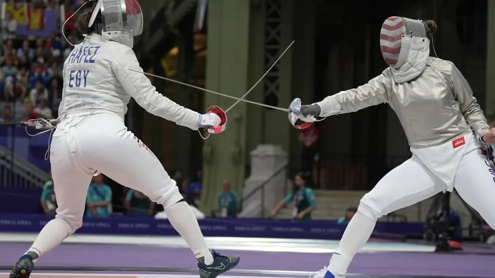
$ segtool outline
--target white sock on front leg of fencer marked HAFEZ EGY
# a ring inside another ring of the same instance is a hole
[[[213,256],[206,246],[199,224],[189,205],[185,201],[177,202],[165,209],[165,213],[170,224],[196,256],[197,261],[206,265],[212,264]]]

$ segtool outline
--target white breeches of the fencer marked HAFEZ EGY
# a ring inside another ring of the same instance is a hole
[[[149,148],[127,130],[118,115],[103,112],[63,118],[53,133],[51,172],[56,217],[82,225],[86,193],[95,170],[168,208],[182,196]]]

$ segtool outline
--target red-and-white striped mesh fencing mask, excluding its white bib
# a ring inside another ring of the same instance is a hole
[[[418,19],[410,19],[399,16],[388,17],[381,26],[380,32],[380,49],[385,62],[391,67],[400,67],[405,60],[399,60],[400,57],[405,59],[408,49],[402,49],[402,40],[404,37],[427,38],[426,25]],[[429,46],[429,40],[428,40]]]

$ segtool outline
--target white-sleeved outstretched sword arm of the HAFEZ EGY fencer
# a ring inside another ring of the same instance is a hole
[[[158,93],[144,74],[129,70],[142,71],[132,49],[115,54],[111,69],[127,93],[146,111],[193,130],[198,128],[199,113],[180,106]]]

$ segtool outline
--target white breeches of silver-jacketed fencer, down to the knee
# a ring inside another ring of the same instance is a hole
[[[495,173],[480,149],[462,156],[454,178],[454,188],[460,197],[478,211],[495,228]],[[413,155],[388,172],[376,186],[365,194],[358,210],[370,219],[415,204],[446,189]]]

